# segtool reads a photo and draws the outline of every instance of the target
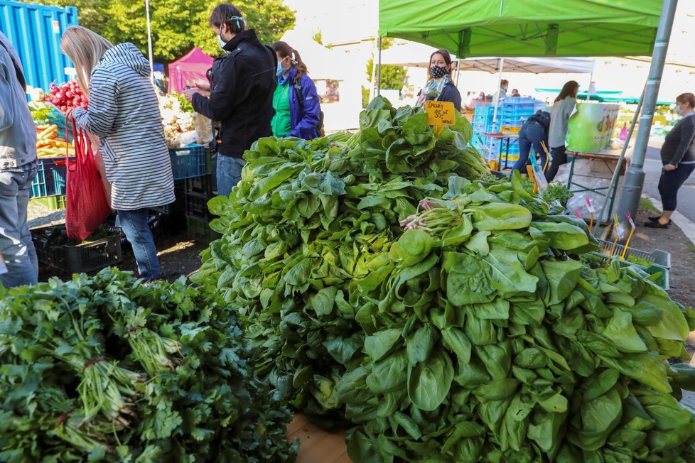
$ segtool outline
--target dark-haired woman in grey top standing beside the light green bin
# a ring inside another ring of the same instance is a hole
[[[557,170],[560,168],[560,165],[567,163],[565,137],[567,136],[569,116],[571,116],[577,104],[578,90],[579,84],[576,80],[565,82],[550,112],[548,144],[553,161],[545,173],[545,178],[549,182],[557,175]]]

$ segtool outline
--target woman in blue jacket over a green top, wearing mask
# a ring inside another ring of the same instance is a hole
[[[270,45],[278,58],[278,85],[273,96],[273,135],[311,140],[320,136],[320,102],[297,50],[285,42]]]

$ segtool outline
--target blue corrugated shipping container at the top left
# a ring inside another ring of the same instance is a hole
[[[72,68],[72,63],[60,51],[60,38],[69,26],[77,26],[74,6],[0,0],[0,31],[17,49],[28,86],[48,91],[50,82],[70,80],[65,68]]]

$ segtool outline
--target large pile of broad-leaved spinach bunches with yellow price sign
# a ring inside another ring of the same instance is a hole
[[[239,307],[280,398],[353,423],[358,462],[695,461],[695,371],[666,362],[692,310],[583,265],[586,224],[486,175],[465,121],[435,136],[377,98],[360,128],[258,141],[209,204],[193,280]]]

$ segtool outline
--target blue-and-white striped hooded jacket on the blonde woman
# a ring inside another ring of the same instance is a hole
[[[73,112],[78,126],[99,136],[116,210],[156,207],[176,199],[149,74],[149,62],[135,45],[116,45],[92,70],[89,110]]]

